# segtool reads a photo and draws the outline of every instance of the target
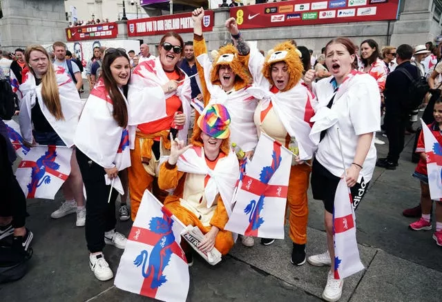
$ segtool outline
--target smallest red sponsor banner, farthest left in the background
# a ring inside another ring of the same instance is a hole
[[[118,26],[114,22],[66,28],[67,41],[114,39],[117,37],[117,34]]]

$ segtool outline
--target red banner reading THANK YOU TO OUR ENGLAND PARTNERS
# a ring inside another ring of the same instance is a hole
[[[236,15],[238,24],[245,17],[242,14]],[[202,31],[211,31],[213,28],[213,10],[206,10],[202,20]],[[160,17],[149,17],[127,21],[128,37],[152,36],[165,34],[166,32],[193,32],[193,20],[191,12],[183,14],[171,14]]]

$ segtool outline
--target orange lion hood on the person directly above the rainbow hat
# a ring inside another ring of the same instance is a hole
[[[240,61],[238,57],[238,50],[236,50],[235,46],[232,44],[227,44],[227,46],[223,46],[218,51],[213,52],[213,54],[214,58],[210,73],[210,81],[213,85],[221,85],[218,71],[222,65],[229,65],[233,70],[233,73],[236,74],[235,82],[233,84],[235,90],[240,90],[242,88],[246,88],[248,85],[251,85],[253,80],[251,78],[249,69]]]

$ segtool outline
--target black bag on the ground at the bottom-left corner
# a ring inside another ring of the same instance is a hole
[[[17,252],[11,246],[0,246],[0,283],[17,281],[28,272],[32,248]]]

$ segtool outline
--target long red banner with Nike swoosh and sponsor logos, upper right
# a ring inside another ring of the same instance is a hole
[[[396,20],[399,0],[292,0],[230,9],[240,29]]]

